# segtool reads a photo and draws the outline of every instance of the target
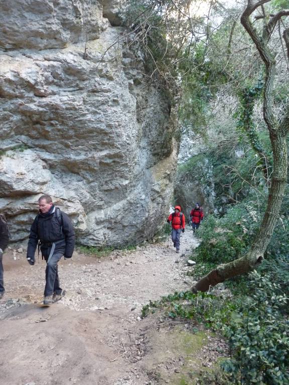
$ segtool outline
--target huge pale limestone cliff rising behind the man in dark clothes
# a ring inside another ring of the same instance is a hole
[[[9,6],[6,22],[0,13],[0,211],[13,240],[28,237],[42,194],[70,215],[82,244],[151,237],[167,215],[177,144],[141,53],[113,45],[123,30],[96,1]]]

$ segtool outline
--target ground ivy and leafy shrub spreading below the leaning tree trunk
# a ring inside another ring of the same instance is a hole
[[[248,296],[222,298],[208,293],[175,292],[150,301],[142,316],[162,309],[172,319],[194,319],[228,339],[230,358],[219,369],[200,375],[225,385],[281,385],[289,383],[289,321],[282,313],[288,298],[280,286],[256,271],[249,275]]]

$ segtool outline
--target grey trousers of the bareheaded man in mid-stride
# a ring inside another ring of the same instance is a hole
[[[50,295],[61,294],[62,289],[60,287],[59,277],[58,277],[58,266],[57,263],[60,261],[63,253],[55,253],[46,260],[46,270],[45,270],[45,289],[44,296],[48,297]]]

